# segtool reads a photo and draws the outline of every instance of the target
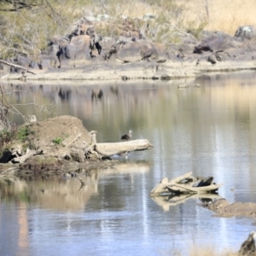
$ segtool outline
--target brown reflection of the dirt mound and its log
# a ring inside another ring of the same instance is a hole
[[[98,182],[100,177],[125,174],[127,180],[132,183],[133,173],[144,173],[149,171],[147,162],[134,162],[117,164],[113,168],[95,169],[90,172],[79,173],[85,183],[81,186],[78,177],[55,177],[54,179],[37,179],[30,182],[17,181],[10,185],[1,185],[0,193],[2,200],[19,200],[35,203],[41,207],[55,211],[79,211],[83,210],[91,195],[98,194]],[[104,196],[112,194],[114,188],[118,188],[118,181],[108,187],[103,184]],[[118,191],[116,191],[118,193]],[[121,199],[123,201],[123,199]],[[113,201],[113,203],[117,203]]]

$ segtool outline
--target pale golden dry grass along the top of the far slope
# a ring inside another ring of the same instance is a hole
[[[143,18],[145,14],[156,15],[160,21],[168,20],[172,25],[200,27],[211,31],[223,31],[234,35],[238,26],[256,26],[254,0],[111,0],[102,4],[94,1],[79,9],[80,17],[90,9],[94,14],[108,14],[115,17]],[[207,16],[208,9],[208,16]],[[78,12],[76,17],[78,17]]]

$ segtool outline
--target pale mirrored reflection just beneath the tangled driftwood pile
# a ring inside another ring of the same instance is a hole
[[[151,196],[151,199],[164,211],[169,211],[170,207],[175,207],[178,204],[184,203],[188,199],[200,199],[201,201],[215,201],[216,199],[222,198],[219,195],[215,194],[182,194],[182,195],[157,195]]]

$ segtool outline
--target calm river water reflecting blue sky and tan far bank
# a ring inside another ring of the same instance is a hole
[[[82,174],[82,188],[77,178],[0,183],[0,255],[239,250],[255,219],[214,217],[199,197],[148,194],[163,177],[193,172],[224,183],[218,195],[230,202],[256,202],[255,81],[256,73],[241,72],[168,82],[4,84],[15,90],[9,102],[44,105],[43,112],[17,106],[26,115],[74,115],[97,131],[97,142],[118,142],[132,130],[154,148],[115,157],[116,168]],[[178,89],[195,83],[201,87]]]

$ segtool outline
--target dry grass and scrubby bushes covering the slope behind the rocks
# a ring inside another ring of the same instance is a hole
[[[23,9],[18,13],[0,13],[0,34],[4,38],[0,38],[2,57],[19,53],[34,55],[36,59],[49,38],[72,31],[73,22],[88,14],[112,18],[115,24],[107,27],[108,36],[118,34],[117,27],[124,17],[142,19],[143,15],[154,15],[145,35],[149,40],[163,44],[178,42],[180,32],[200,38],[206,29],[234,35],[238,26],[256,26],[254,0],[50,0],[50,3],[63,19],[60,20],[58,15],[52,17],[47,8],[44,11]],[[52,18],[58,20],[60,26],[56,26]],[[144,25],[148,26],[148,20]],[[144,25],[140,25],[142,29]]]

